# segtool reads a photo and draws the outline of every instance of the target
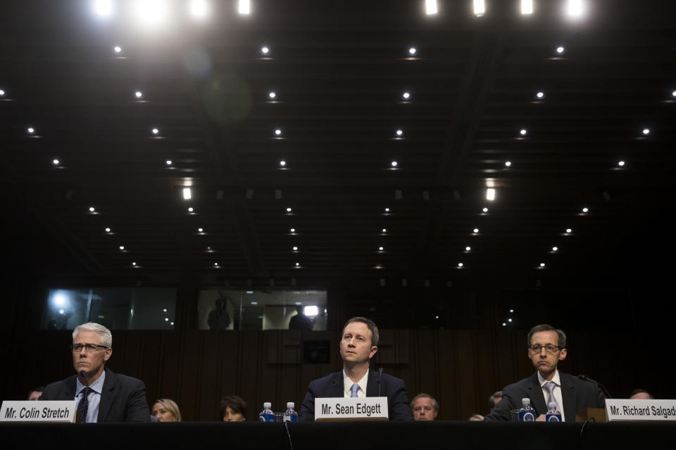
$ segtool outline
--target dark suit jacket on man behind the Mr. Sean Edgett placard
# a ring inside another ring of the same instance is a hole
[[[366,397],[378,397],[378,378],[376,371],[368,371],[366,383]],[[387,397],[387,414],[389,420],[413,420],[411,406],[408,405],[406,385],[403,380],[382,374],[382,387],[380,395]],[[311,422],[315,420],[315,398],[345,397],[343,390],[343,371],[332,373],[324,378],[313,380],[308,385],[308,393],[305,395],[298,420]]]

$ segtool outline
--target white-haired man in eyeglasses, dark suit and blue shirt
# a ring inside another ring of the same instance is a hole
[[[111,331],[99,323],[75,328],[70,348],[77,375],[47,385],[40,400],[75,399],[84,423],[149,422],[144,383],[105,367],[112,345]]]

